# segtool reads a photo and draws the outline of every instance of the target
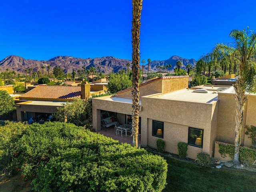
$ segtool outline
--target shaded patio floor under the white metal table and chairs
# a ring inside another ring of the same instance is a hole
[[[105,131],[105,128],[102,128],[102,130],[97,131],[98,133],[107,136],[107,137],[111,137],[114,140],[118,140],[120,143],[128,143],[130,145],[132,145],[132,137],[128,136],[129,134],[127,133],[127,136],[121,136],[120,135],[116,135],[115,133],[115,126],[110,126],[108,128],[106,128],[107,131]],[[138,146],[140,146],[140,139],[138,140]]]

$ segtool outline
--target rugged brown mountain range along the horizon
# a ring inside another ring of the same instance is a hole
[[[185,66],[190,63],[193,67],[196,64],[196,60],[194,59],[185,59],[179,56],[172,56],[167,60],[153,60],[150,62],[150,71],[158,70],[156,66],[166,66],[167,64],[171,64],[172,67],[168,68],[168,70],[173,70],[175,68],[176,62],[181,60],[183,65],[181,68],[185,68]],[[148,70],[148,62],[145,60],[146,63],[144,64],[144,70]],[[75,58],[71,56],[56,56],[50,60],[31,60],[31,59],[24,59],[19,56],[8,56],[0,61],[0,72],[5,71],[7,68],[12,71],[17,71],[20,73],[25,73],[25,70],[28,68],[32,68],[33,71],[42,70],[42,66],[50,65],[52,70],[54,67],[59,66],[63,69],[64,73],[71,73],[74,69],[75,71],[78,69],[82,70],[82,67],[85,66],[88,69],[90,66],[98,68],[100,66],[100,72],[103,73],[111,73],[111,72],[118,72],[122,69],[127,69],[127,63],[130,63],[130,70],[132,68],[132,60],[126,59],[118,59],[112,56],[106,56],[102,58]],[[140,66],[142,68],[142,66]]]

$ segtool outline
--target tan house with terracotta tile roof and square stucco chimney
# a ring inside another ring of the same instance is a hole
[[[40,120],[57,111],[57,107],[75,98],[88,99],[92,94],[103,94],[104,86],[90,86],[87,82],[80,86],[38,85],[16,99],[17,120],[29,118]]]

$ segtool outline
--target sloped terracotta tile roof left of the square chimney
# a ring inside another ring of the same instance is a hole
[[[50,86],[39,85],[20,97],[20,99],[74,99],[80,98],[81,87],[79,86]]]

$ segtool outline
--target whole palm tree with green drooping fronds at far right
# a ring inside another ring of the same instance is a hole
[[[239,164],[239,149],[241,144],[242,120],[244,117],[244,106],[247,100],[246,91],[256,92],[256,34],[247,30],[232,30],[230,37],[235,40],[233,46],[218,44],[216,51],[220,53],[218,59],[224,56],[238,63],[238,80],[233,85],[236,101],[236,125],[235,125],[235,152],[234,164]]]

